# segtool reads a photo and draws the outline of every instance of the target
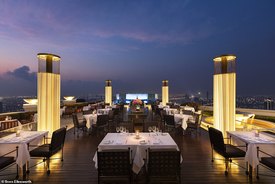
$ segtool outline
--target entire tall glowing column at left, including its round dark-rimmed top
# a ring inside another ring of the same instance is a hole
[[[37,130],[52,133],[60,128],[60,56],[46,53],[37,56]]]

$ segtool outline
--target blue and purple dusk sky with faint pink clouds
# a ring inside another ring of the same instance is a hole
[[[275,1],[0,0],[0,96],[37,95],[38,53],[61,56],[61,95],[213,94],[236,55],[236,94],[275,95]]]

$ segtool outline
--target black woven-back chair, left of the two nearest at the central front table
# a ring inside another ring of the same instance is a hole
[[[132,150],[97,152],[98,183],[132,183]]]

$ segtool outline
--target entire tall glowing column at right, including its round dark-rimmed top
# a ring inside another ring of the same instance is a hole
[[[236,116],[236,73],[233,54],[214,58],[214,128],[224,137],[226,131],[235,131]]]

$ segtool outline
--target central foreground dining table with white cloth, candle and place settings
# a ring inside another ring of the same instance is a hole
[[[149,133],[140,133],[139,138],[137,139],[135,133],[129,134],[128,136],[123,136],[122,133],[108,133],[103,140],[98,145],[98,151],[106,149],[130,149],[132,150],[133,158],[133,167],[132,170],[134,173],[139,173],[140,169],[144,165],[144,158],[146,158],[146,151],[150,149],[165,149],[165,148],[174,148],[179,150],[178,145],[172,139],[170,134],[162,133],[159,135],[154,135],[152,132]],[[150,136],[151,135],[151,136]],[[123,138],[125,138],[123,140]],[[127,140],[127,141],[126,141]],[[95,168],[97,168],[97,153],[93,157],[95,162]],[[182,157],[181,157],[182,162]]]

